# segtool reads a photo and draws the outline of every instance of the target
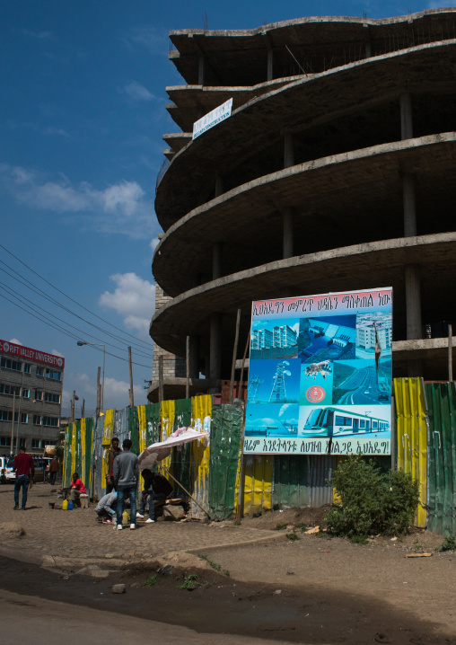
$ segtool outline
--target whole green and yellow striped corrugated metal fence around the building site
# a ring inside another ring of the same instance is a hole
[[[456,390],[455,384],[423,384],[419,378],[394,379],[393,462],[417,479],[420,504],[417,526],[438,533],[456,531]],[[230,517],[237,505],[241,410],[214,405],[211,396],[106,411],[94,428],[86,419],[68,426],[64,483],[77,471],[100,498],[106,487],[103,467],[113,436],[130,437],[133,449],[162,441],[180,426],[209,430],[206,442],[174,448],[160,464],[217,519]],[[333,499],[334,468],[344,457],[327,455],[246,455],[244,512],[270,508],[318,507]],[[390,457],[378,459],[382,468]],[[179,494],[179,489],[176,489]],[[204,517],[192,502],[194,517]]]

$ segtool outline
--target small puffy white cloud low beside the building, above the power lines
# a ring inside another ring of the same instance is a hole
[[[155,304],[155,285],[136,273],[116,273],[110,279],[117,285],[114,292],[101,294],[99,304],[124,316],[130,329],[148,330]]]

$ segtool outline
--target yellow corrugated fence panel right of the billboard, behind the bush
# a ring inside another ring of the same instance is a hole
[[[397,466],[419,482],[416,524],[427,524],[427,420],[421,378],[395,378]]]

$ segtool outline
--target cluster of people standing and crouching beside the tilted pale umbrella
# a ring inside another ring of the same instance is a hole
[[[136,488],[139,479],[137,456],[130,451],[130,439],[125,439],[120,450],[118,437],[111,441],[106,459],[106,494],[100,499],[95,508],[103,524],[114,525],[114,529],[122,529],[122,516],[125,499],[130,503],[130,529],[136,528],[136,518],[145,517],[148,505],[146,524],[155,521],[155,501],[164,500],[171,496],[172,486],[168,480],[158,473],[145,469],[142,471],[144,490],[141,495],[139,511],[136,511]]]

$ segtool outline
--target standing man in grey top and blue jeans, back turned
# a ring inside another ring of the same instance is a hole
[[[113,469],[114,485],[118,491],[117,526],[115,526],[118,531],[122,528],[122,513],[126,496],[130,500],[130,529],[136,528],[136,486],[139,475],[137,457],[134,453],[130,453],[130,439],[125,439],[122,446],[124,452],[115,458]]]

